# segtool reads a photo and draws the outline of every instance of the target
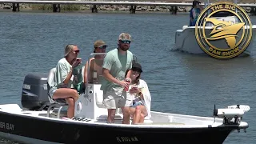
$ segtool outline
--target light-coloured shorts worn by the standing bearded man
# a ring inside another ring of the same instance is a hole
[[[103,104],[107,109],[117,109],[123,106],[131,106],[133,101],[126,98],[127,94],[124,90],[110,90],[103,94]]]

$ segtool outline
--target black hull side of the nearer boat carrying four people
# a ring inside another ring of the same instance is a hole
[[[0,136],[27,143],[213,143],[220,144],[234,127],[149,128],[36,118],[0,111]]]

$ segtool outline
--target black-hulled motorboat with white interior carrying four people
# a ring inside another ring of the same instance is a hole
[[[214,107],[214,117],[151,111],[151,118],[136,125],[122,124],[122,113],[117,110],[114,123],[108,124],[98,82],[86,83],[85,94],[75,104],[74,118],[66,118],[66,104],[54,102],[47,94],[47,82],[54,78],[54,69],[50,74],[26,75],[22,108],[18,104],[0,105],[1,137],[25,143],[221,144],[234,130],[248,128],[242,117],[250,107],[243,105]]]

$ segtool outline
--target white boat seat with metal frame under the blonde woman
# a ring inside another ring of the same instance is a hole
[[[47,78],[47,90],[50,90],[50,85],[49,83],[53,83],[54,81],[54,75],[56,73],[56,67],[52,68],[48,74],[48,78]],[[68,106],[68,104],[66,103],[66,100],[63,98],[58,98],[58,99],[53,99],[51,98],[49,91],[48,91],[48,98],[50,101],[50,106],[47,109],[47,117],[50,117],[50,110],[52,108],[58,108],[58,114],[57,114],[57,118],[60,118],[60,113],[62,110],[63,106]]]

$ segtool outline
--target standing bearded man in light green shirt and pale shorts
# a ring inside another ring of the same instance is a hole
[[[126,90],[130,84],[130,70],[133,54],[129,51],[131,36],[122,33],[118,38],[118,48],[110,50],[104,58],[102,65],[103,103],[108,109],[107,122],[113,123],[115,110],[122,109],[123,124],[130,123],[130,107],[132,98],[127,98]],[[127,75],[126,75],[126,71]]]

